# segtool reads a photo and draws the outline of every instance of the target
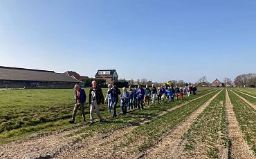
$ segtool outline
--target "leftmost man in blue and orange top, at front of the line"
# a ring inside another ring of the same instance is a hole
[[[84,89],[80,88],[79,85],[75,85],[75,107],[73,109],[72,119],[69,121],[69,123],[73,124],[75,123],[75,116],[77,114],[77,110],[80,108],[82,112],[82,117],[85,120],[85,112],[84,112],[84,103],[86,102],[86,94],[84,92]]]

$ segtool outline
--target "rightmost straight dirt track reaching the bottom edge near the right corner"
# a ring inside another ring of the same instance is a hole
[[[230,158],[255,159],[253,152],[244,141],[244,135],[241,132],[232,103],[226,90],[226,107],[228,114],[228,138],[230,139]]]

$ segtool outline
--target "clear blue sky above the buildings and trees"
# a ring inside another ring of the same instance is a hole
[[[256,70],[256,1],[1,0],[0,65],[208,81]]]

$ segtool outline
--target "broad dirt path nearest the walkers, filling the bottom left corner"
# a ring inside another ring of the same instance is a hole
[[[210,92],[208,94],[211,94]],[[205,94],[203,96],[206,96]],[[168,112],[182,107],[183,105],[187,105],[194,100],[202,98],[203,96],[199,96],[198,98],[194,98],[189,100],[181,105],[177,105],[168,109],[165,112],[161,112],[156,116],[162,116],[163,114],[167,114]],[[75,129],[71,129],[68,131],[56,131],[46,136],[37,136],[35,138],[30,138],[29,140],[19,140],[16,142],[11,142],[8,144],[0,145],[0,158],[51,158],[53,156],[57,156],[60,153],[64,153],[65,151],[77,151],[77,149],[90,149],[90,147],[94,147],[97,149],[95,145],[100,145],[102,142],[106,140],[112,140],[111,138],[119,138],[122,137],[122,134],[125,134],[131,129],[138,127],[138,125],[144,124],[156,118],[156,116],[152,116],[141,120],[135,125],[130,125],[127,127],[123,127],[122,129],[118,129],[109,133],[107,136],[102,134],[95,134],[95,136],[91,138],[86,138],[82,142],[74,142],[73,138],[67,138],[66,135],[71,134],[73,131],[77,129],[82,129],[82,127],[78,127]],[[119,136],[121,134],[121,136]],[[69,152],[68,152],[69,153]],[[66,158],[64,156],[64,158]]]

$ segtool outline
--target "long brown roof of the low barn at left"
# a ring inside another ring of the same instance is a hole
[[[17,67],[0,66],[1,81],[50,81],[50,82],[73,82],[80,83],[75,78],[66,74],[55,73],[46,70],[33,70]]]

